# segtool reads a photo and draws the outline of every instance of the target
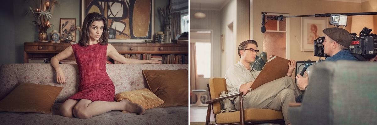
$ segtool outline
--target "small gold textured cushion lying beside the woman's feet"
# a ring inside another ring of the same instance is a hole
[[[128,99],[133,103],[140,104],[145,110],[157,107],[164,103],[164,101],[147,88],[121,92],[115,95],[115,100],[117,102],[122,101],[123,99]]]

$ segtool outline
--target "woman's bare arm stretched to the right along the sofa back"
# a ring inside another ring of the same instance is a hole
[[[113,45],[107,45],[107,56],[111,59],[116,60],[122,64],[161,64],[161,61],[158,60],[139,60],[139,59],[127,59],[126,57],[122,56],[121,54],[116,51]]]

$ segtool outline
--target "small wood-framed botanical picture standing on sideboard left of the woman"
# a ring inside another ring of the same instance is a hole
[[[76,19],[60,18],[60,41],[75,42],[76,39]]]

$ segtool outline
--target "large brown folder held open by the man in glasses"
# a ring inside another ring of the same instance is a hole
[[[279,56],[271,55],[270,59],[263,66],[254,83],[251,85],[251,90],[254,90],[257,87],[262,86],[263,84],[270,81],[284,77],[289,69],[288,62],[291,61]]]

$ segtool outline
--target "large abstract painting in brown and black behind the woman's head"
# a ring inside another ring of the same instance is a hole
[[[107,19],[109,42],[144,42],[154,35],[155,0],[81,0],[81,23],[98,12]]]

